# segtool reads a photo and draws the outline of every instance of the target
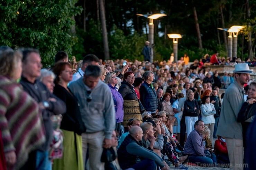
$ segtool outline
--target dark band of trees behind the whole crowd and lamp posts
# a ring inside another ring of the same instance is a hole
[[[59,50],[82,59],[94,53],[104,59],[99,0],[8,0],[0,2],[0,45],[38,48],[44,64],[52,64]],[[111,59],[139,59],[147,40],[148,19],[137,13],[165,13],[154,20],[155,59],[173,52],[168,33],[179,33],[179,56],[200,59],[219,51],[227,57],[227,33],[217,28],[246,26],[238,36],[238,57],[255,49],[255,0],[104,0]],[[196,29],[195,12],[199,25]],[[75,16],[75,17],[74,17]],[[72,19],[73,18],[73,19]],[[74,30],[75,26],[75,30]],[[202,48],[198,37],[201,37]],[[251,44],[247,41],[251,40]]]

